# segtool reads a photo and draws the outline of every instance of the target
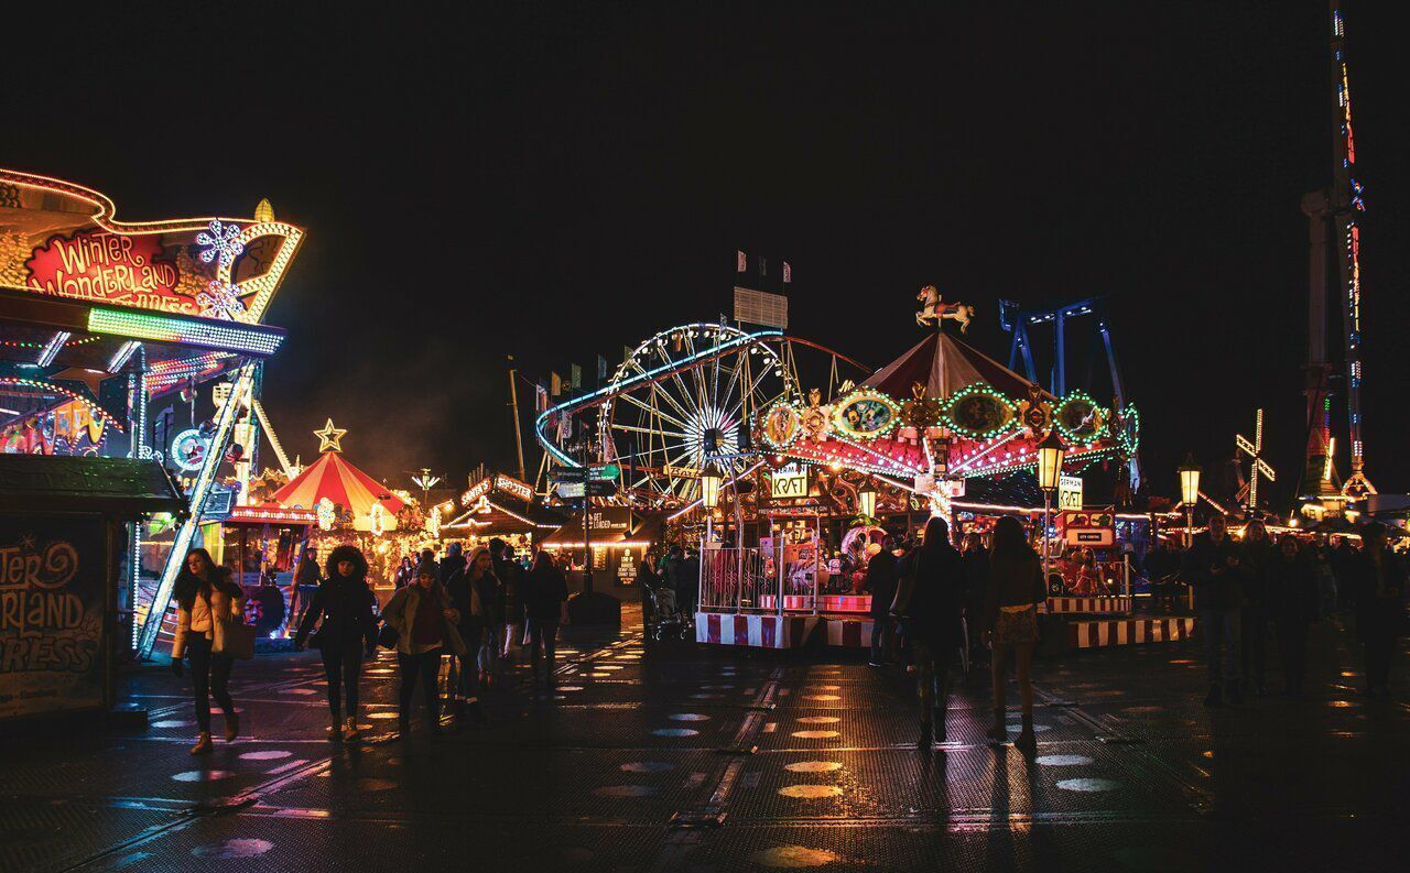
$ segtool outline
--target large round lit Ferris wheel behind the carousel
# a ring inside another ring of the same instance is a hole
[[[599,451],[616,462],[622,487],[674,505],[699,497],[706,466],[743,475],[754,414],[799,398],[781,341],[774,331],[687,324],[636,346],[596,410]]]

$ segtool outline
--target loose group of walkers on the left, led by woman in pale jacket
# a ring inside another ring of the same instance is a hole
[[[295,648],[313,646],[323,660],[330,741],[360,738],[362,663],[378,646],[396,652],[398,728],[403,738],[410,735],[417,691],[427,729],[440,731],[443,666],[448,670],[446,697],[457,725],[484,721],[482,689],[502,682],[502,665],[516,648],[529,652],[532,682],[553,680],[568,583],[550,552],[540,549],[525,567],[501,539],[468,558],[458,544],[451,544],[439,562],[427,549],[416,562],[402,563],[396,590],[381,610],[367,573],[365,556],[351,545],[334,548],[321,572],[312,560],[298,572],[302,584],[316,587],[298,622]],[[224,712],[226,739],[234,741],[240,732],[228,691],[235,658],[226,635],[244,622],[244,593],[206,549],[192,549],[173,597],[178,618],[172,669],[183,676],[183,663],[190,665],[199,729],[190,752],[204,755],[213,748],[212,697]]]

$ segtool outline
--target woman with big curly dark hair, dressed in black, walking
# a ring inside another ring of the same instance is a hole
[[[323,672],[329,680],[329,711],[333,727],[329,739],[357,739],[358,679],[364,652],[376,649],[376,597],[367,584],[367,559],[357,546],[341,545],[329,555],[327,579],[313,593],[309,610],[299,622],[293,648],[303,651],[313,625],[323,620],[313,645],[323,653]],[[347,698],[347,729],[343,728],[343,698]]]

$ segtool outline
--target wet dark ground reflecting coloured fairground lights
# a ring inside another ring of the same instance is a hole
[[[1402,866],[1404,658],[1397,701],[1368,701],[1349,636],[1324,627],[1301,700],[1211,711],[1197,646],[1039,663],[1035,758],[986,743],[981,682],[957,682],[949,742],[922,753],[895,670],[647,649],[630,629],[568,643],[553,690],[516,676],[485,727],[440,739],[391,736],[388,656],[364,682],[369,739],[343,746],[323,738],[316,656],[261,656],[231,689],[247,735],[193,759],[183,684],[144,670],[123,686],[147,732],[6,742],[0,870]]]

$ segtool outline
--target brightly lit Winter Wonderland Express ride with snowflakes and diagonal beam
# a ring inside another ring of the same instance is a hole
[[[0,170],[0,451],[161,459],[186,513],[127,529],[123,635],[157,642],[185,552],[257,463],[262,324],[303,231],[251,218],[123,221],[69,182]],[[206,386],[213,386],[209,390]]]

